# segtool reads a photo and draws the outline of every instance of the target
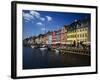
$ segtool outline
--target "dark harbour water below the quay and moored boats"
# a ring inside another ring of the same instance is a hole
[[[23,69],[90,66],[90,56],[23,47]]]

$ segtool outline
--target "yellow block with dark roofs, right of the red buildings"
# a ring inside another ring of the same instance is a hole
[[[77,21],[68,26],[67,44],[77,45],[80,42],[84,44],[90,42],[90,29],[88,21]]]

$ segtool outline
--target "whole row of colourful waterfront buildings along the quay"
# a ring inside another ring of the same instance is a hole
[[[35,42],[40,44],[51,44],[56,47],[77,46],[79,43],[90,43],[90,20],[75,20],[70,25],[64,25],[57,31],[47,32],[39,35]],[[32,42],[32,41],[29,41]]]

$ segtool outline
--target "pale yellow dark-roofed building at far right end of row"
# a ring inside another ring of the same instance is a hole
[[[77,43],[90,43],[90,21],[88,19],[84,19],[81,21],[81,25],[77,25]]]

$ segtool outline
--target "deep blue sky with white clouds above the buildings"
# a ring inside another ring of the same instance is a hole
[[[48,12],[36,10],[23,10],[23,39],[45,34],[48,31],[61,29],[75,20],[90,18],[87,13]]]

